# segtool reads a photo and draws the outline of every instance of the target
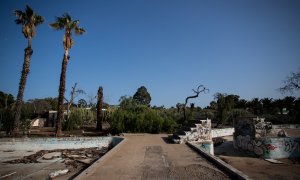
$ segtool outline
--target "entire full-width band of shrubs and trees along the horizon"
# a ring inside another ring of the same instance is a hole
[[[64,130],[76,130],[84,125],[96,127],[96,108],[82,107],[80,104],[84,101],[84,99],[80,99],[78,104],[71,106],[70,118],[62,124]],[[133,97],[123,96],[120,98],[118,107],[103,103],[102,107],[106,110],[102,112],[101,119],[110,124],[111,133],[172,133],[182,125],[183,105],[178,103],[177,106],[180,108],[150,107],[139,103]],[[0,92],[0,127],[2,130],[9,130],[13,118],[13,106],[14,97]],[[20,130],[28,129],[29,119],[42,117],[45,112],[56,109],[56,107],[57,99],[55,98],[27,101],[22,106]],[[66,107],[67,104],[65,104]],[[214,101],[204,109],[191,103],[189,107],[186,107],[186,115],[188,120],[209,118],[219,126],[231,126],[233,119],[249,116],[265,117],[273,124],[299,124],[300,98],[287,96],[283,99],[253,98],[247,101],[238,95],[217,93]]]

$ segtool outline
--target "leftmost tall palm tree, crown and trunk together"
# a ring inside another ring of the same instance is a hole
[[[16,24],[22,25],[22,33],[25,38],[28,40],[28,46],[25,48],[24,63],[21,74],[21,79],[19,83],[18,96],[15,106],[15,116],[13,121],[13,126],[10,129],[10,133],[16,134],[19,131],[20,117],[21,117],[21,108],[23,101],[23,94],[26,85],[27,76],[29,74],[30,67],[30,57],[33,53],[31,49],[32,38],[36,34],[35,27],[44,22],[44,18],[36,14],[31,7],[26,6],[25,12],[21,10],[15,10],[14,14],[17,16],[15,20]]]

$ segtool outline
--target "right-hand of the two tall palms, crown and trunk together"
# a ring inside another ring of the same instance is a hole
[[[64,34],[64,58],[62,61],[60,83],[59,83],[59,96],[58,96],[58,110],[57,110],[57,121],[56,121],[56,136],[61,135],[61,122],[63,120],[63,105],[64,105],[64,93],[66,86],[66,71],[68,60],[70,59],[69,50],[72,48],[74,43],[72,39],[72,32],[76,35],[81,35],[85,32],[83,28],[78,26],[79,20],[72,21],[71,16],[68,13],[63,14],[61,17],[56,17],[56,21],[51,23],[50,26],[55,30],[65,30]]]

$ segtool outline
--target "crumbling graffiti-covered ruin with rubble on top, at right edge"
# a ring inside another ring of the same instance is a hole
[[[234,121],[234,148],[264,159],[300,157],[300,138],[288,137],[283,129],[272,127],[263,118]]]

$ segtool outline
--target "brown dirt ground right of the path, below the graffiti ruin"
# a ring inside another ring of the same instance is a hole
[[[300,137],[300,129],[286,129],[291,137]],[[273,164],[264,159],[253,157],[233,148],[232,136],[215,147],[215,156],[219,157],[234,168],[242,171],[252,179],[299,179],[299,159],[279,159],[283,164]]]

